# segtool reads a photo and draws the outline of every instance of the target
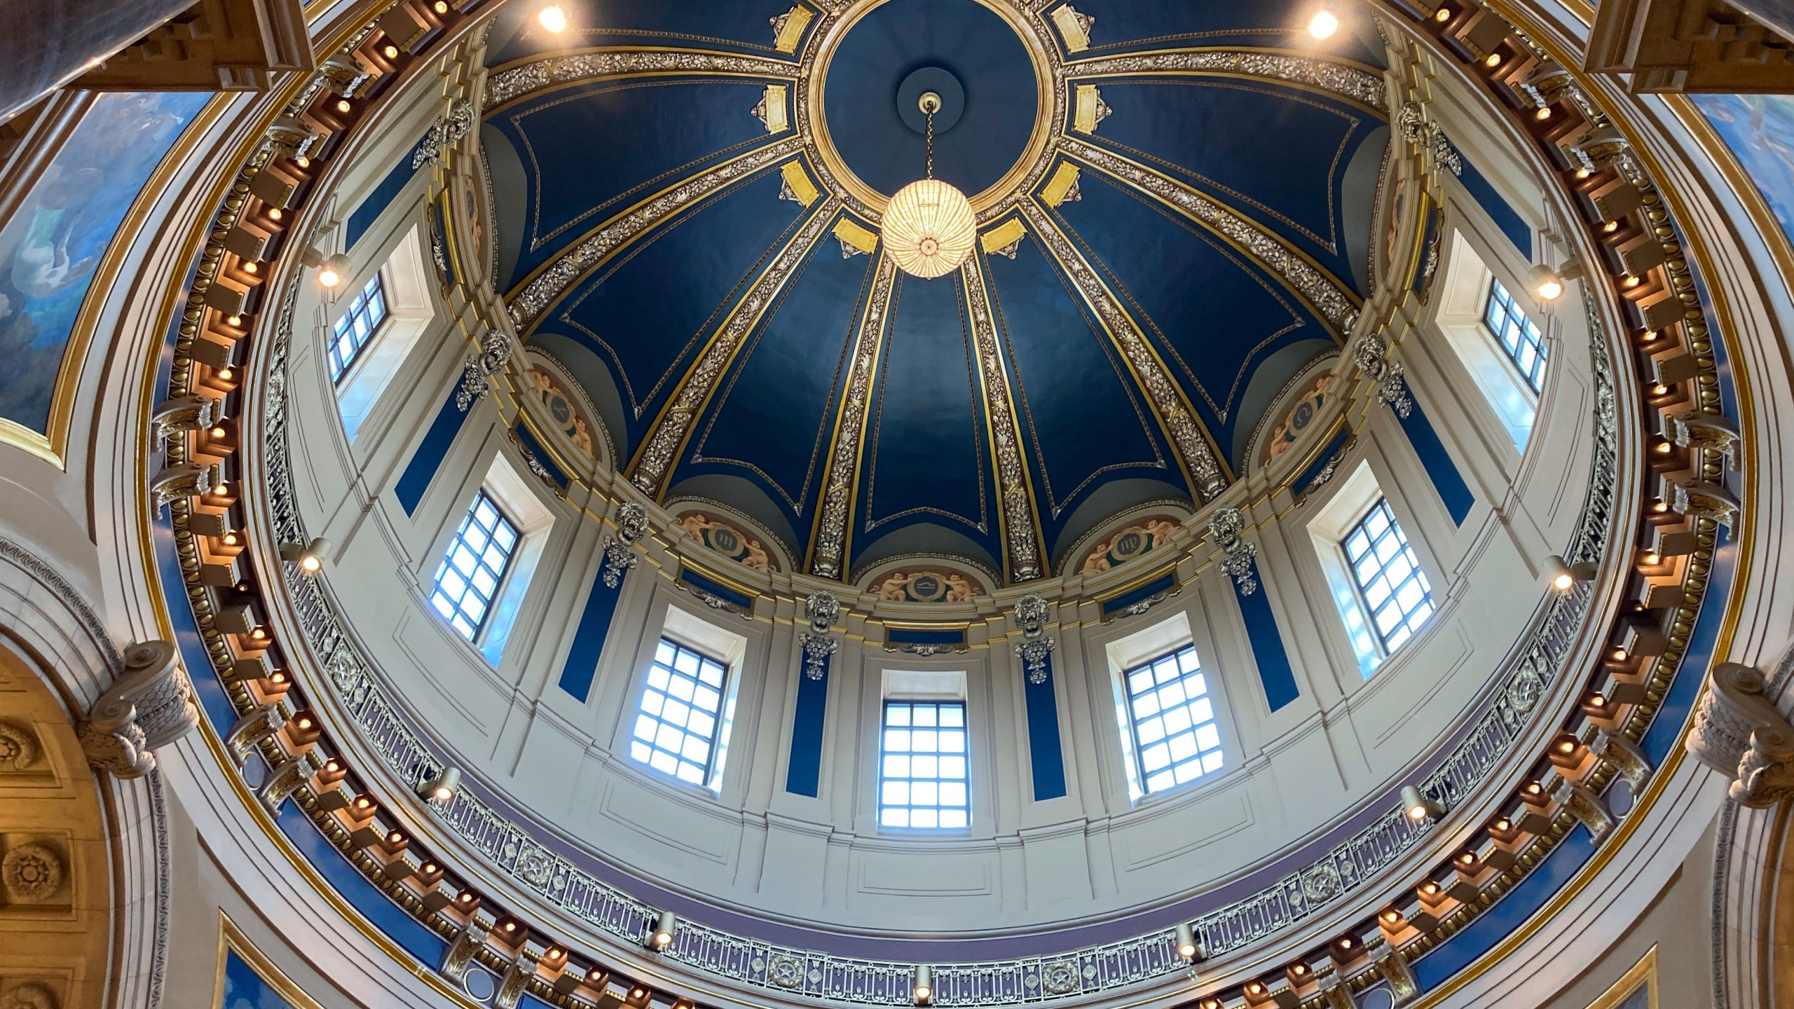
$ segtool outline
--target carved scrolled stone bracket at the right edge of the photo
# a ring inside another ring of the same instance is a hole
[[[1753,666],[1713,666],[1686,745],[1731,779],[1729,795],[1742,806],[1767,810],[1794,795],[1794,725],[1764,695],[1764,673]]]

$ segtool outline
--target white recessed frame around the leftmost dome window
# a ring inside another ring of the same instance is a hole
[[[386,259],[371,269],[359,271],[353,285],[343,284],[341,291],[344,294],[339,294],[335,303],[330,305],[323,330],[323,366],[327,375],[330,370],[328,343],[335,339],[335,323],[348,312],[355,294],[368,285],[368,278],[375,273],[380,275],[380,285],[386,293],[386,321],[368,338],[368,343],[361,347],[348,368],[335,379],[337,415],[343,418],[343,433],[350,443],[355,442],[361,427],[373,415],[373,408],[391,386],[393,377],[400,372],[400,366],[436,318],[427,284],[429,273],[423,264],[422,223],[413,224]]]

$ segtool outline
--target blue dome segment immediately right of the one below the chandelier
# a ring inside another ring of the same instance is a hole
[[[1182,483],[1150,402],[1053,253],[1030,235],[987,269],[1048,542],[1107,481]]]

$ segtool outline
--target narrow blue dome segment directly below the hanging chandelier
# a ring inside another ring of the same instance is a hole
[[[919,524],[1003,557],[965,289],[958,275],[899,275],[888,312],[859,467],[854,557]]]

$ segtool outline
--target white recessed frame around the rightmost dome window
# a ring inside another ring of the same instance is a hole
[[[1462,230],[1451,232],[1450,255],[1446,257],[1444,276],[1433,291],[1433,325],[1446,338],[1446,345],[1457,354],[1464,370],[1469,372],[1482,391],[1489,409],[1507,431],[1516,452],[1525,452],[1532,440],[1532,427],[1537,422],[1541,391],[1534,391],[1532,382],[1520,372],[1520,366],[1507,355],[1502,339],[1489,332],[1484,316],[1489,307],[1489,285],[1500,280],[1502,287],[1514,296],[1534,325],[1539,327],[1545,348],[1545,372],[1539,377],[1539,390],[1550,381],[1550,361],[1557,355],[1555,327],[1548,312],[1537,305],[1527,287],[1520,284],[1505,268],[1491,268],[1476,244]]]

